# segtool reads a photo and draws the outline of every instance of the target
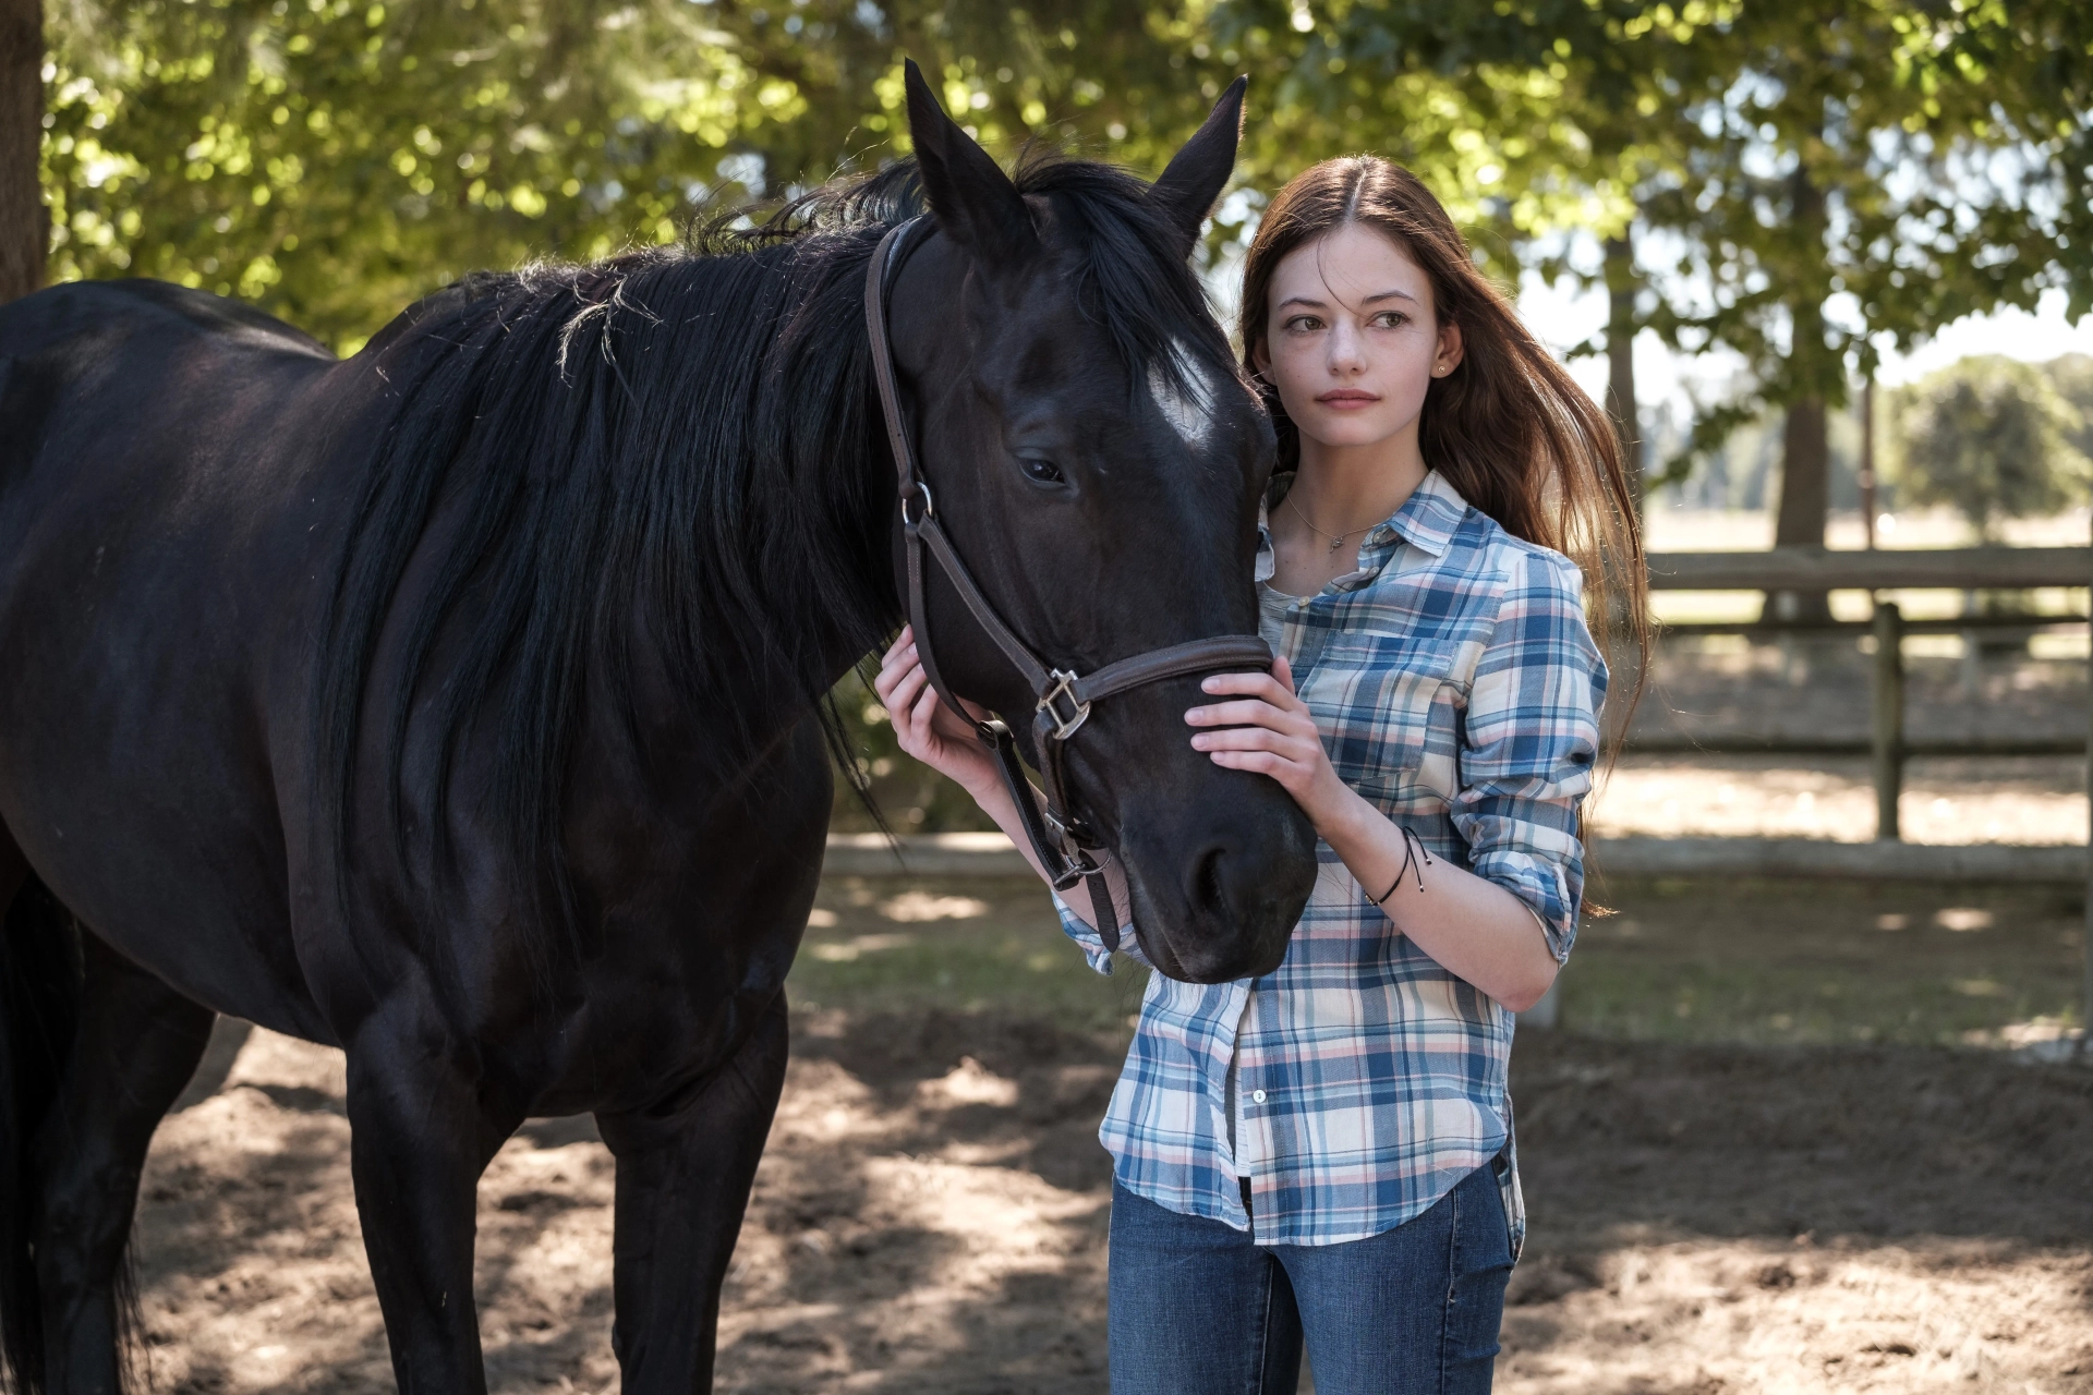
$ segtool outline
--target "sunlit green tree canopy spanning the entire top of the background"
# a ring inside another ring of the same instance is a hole
[[[1637,335],[1733,364],[1653,479],[1773,414],[1783,544],[1821,544],[1827,414],[1880,351],[2093,307],[2083,0],[0,0],[0,282],[165,276],[352,351],[460,272],[904,153],[904,54],[1003,155],[1143,171],[1247,71],[1216,289],[1260,190],[1386,153],[1501,280],[1605,289],[1574,351],[1626,441]]]

